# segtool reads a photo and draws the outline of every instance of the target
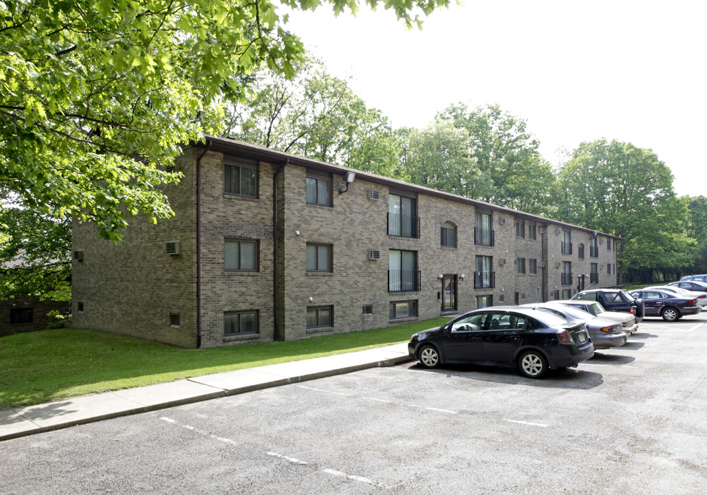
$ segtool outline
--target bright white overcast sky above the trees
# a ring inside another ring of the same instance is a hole
[[[394,127],[497,103],[547,160],[602,137],[650,148],[677,194],[707,195],[707,2],[467,0],[407,31],[379,9],[292,13],[287,28]]]

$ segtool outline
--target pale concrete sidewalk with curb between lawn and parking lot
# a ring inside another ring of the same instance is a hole
[[[407,343],[0,410],[0,441],[409,361]]]

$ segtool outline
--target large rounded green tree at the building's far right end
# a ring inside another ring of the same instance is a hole
[[[582,143],[559,173],[561,220],[619,235],[619,280],[653,281],[689,262],[686,207],[672,173],[651,150],[600,139]],[[664,278],[664,276],[663,276]]]

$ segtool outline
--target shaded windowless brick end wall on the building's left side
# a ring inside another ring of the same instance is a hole
[[[71,249],[83,252],[83,261],[72,266],[74,327],[196,346],[192,153],[187,150],[178,161],[185,175],[180,184],[164,187],[173,218],[154,225],[144,215],[130,217],[118,245],[98,239],[93,224],[74,221]],[[165,254],[165,243],[173,240],[180,241],[180,255]],[[170,325],[170,313],[180,315],[179,327]]]

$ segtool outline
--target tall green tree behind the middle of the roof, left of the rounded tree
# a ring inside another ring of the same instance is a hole
[[[437,116],[467,132],[467,148],[480,175],[465,194],[475,199],[536,214],[547,214],[555,177],[527,132],[525,120],[498,105],[469,109],[450,105]]]

